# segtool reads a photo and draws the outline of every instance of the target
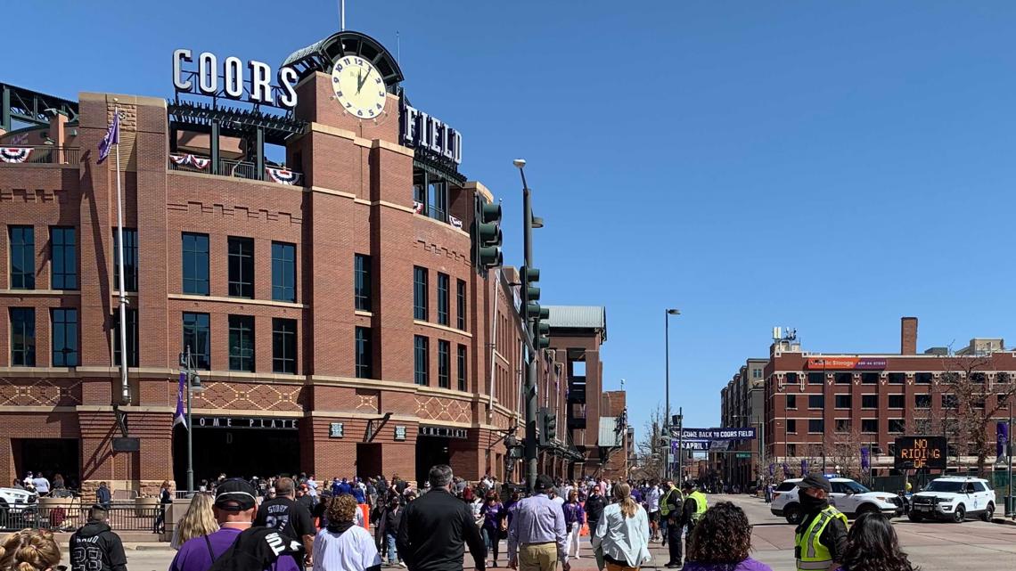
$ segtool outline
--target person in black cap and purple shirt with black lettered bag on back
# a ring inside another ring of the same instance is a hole
[[[244,480],[219,482],[212,506],[218,530],[186,542],[170,571],[297,571],[292,556],[300,555],[298,543],[275,529],[252,526],[257,512],[254,494]]]

